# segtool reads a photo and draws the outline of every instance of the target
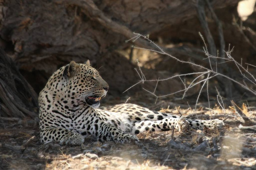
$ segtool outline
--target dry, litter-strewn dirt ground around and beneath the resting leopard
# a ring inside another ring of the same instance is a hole
[[[123,102],[119,100],[119,102]],[[163,101],[162,101],[163,103]],[[152,107],[152,106],[151,106]],[[43,145],[38,120],[0,122],[0,169],[256,169],[256,108],[163,109],[189,118],[220,118],[220,130],[164,131],[138,135],[139,143]],[[246,118],[249,118],[247,120]],[[243,126],[239,126],[243,124]],[[251,126],[250,130],[243,130]]]

